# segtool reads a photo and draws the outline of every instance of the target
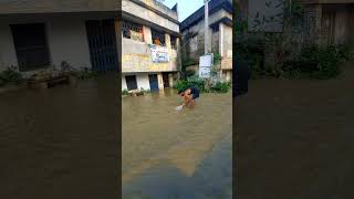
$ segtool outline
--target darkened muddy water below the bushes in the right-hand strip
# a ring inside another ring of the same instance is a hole
[[[250,81],[236,102],[237,198],[354,198],[353,66],[327,81]]]

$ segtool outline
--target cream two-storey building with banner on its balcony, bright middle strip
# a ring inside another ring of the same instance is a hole
[[[122,90],[171,87],[179,70],[177,4],[122,1]]]

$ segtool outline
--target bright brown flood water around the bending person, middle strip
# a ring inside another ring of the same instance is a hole
[[[175,111],[173,90],[122,100],[123,198],[232,198],[231,94]]]

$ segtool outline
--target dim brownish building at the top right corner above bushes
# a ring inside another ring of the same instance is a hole
[[[354,0],[305,1],[309,41],[354,44]]]

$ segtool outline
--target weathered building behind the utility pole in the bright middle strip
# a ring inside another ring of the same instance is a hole
[[[209,52],[221,56],[221,76],[232,80],[232,2],[209,1]],[[201,7],[180,23],[184,62],[197,63],[205,53],[205,7]]]

